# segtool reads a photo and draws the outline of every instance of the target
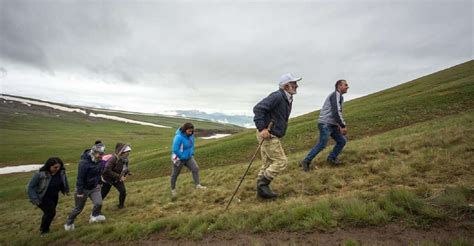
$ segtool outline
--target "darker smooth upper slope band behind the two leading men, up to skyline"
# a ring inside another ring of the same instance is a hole
[[[350,93],[350,91],[349,91]],[[474,108],[474,61],[344,104],[349,140],[376,135],[417,122],[442,118]],[[309,150],[319,131],[319,111],[290,120],[283,147],[288,154]],[[255,130],[236,134],[199,148],[202,168],[225,166],[248,160],[257,145]],[[341,156],[343,159],[344,155]],[[153,152],[136,157],[137,168],[147,174],[169,175],[169,154]],[[146,177],[151,177],[146,175]]]

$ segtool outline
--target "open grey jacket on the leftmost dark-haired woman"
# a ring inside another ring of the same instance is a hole
[[[62,193],[69,193],[69,184],[67,182],[66,170],[59,171],[63,186],[61,187]],[[49,181],[51,181],[51,174],[45,171],[36,172],[28,183],[28,197],[30,202],[39,205],[43,201],[44,194],[48,190]]]

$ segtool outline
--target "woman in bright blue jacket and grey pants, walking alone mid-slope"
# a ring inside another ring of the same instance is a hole
[[[199,182],[199,166],[194,160],[194,126],[185,123],[176,130],[173,139],[173,152],[171,154],[173,172],[171,173],[171,195],[176,196],[176,180],[183,166],[186,166],[193,174],[196,189],[206,189]]]

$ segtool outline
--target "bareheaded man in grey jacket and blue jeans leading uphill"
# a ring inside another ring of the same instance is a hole
[[[335,87],[336,90],[329,94],[320,111],[318,120],[319,143],[311,149],[306,158],[300,161],[300,165],[303,167],[303,171],[305,172],[310,170],[311,161],[314,157],[326,148],[329,136],[336,141],[336,145],[329,154],[327,161],[332,165],[342,164],[342,162],[337,159],[337,156],[341,153],[344,145],[346,145],[346,138],[344,135],[347,134],[346,122],[342,117],[342,104],[344,102],[342,94],[347,92],[349,86],[345,80],[341,79],[336,82]]]

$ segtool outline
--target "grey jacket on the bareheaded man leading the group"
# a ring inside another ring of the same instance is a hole
[[[342,103],[344,98],[339,91],[334,91],[326,98],[319,113],[319,123],[338,125],[346,127],[346,122],[342,117]]]

